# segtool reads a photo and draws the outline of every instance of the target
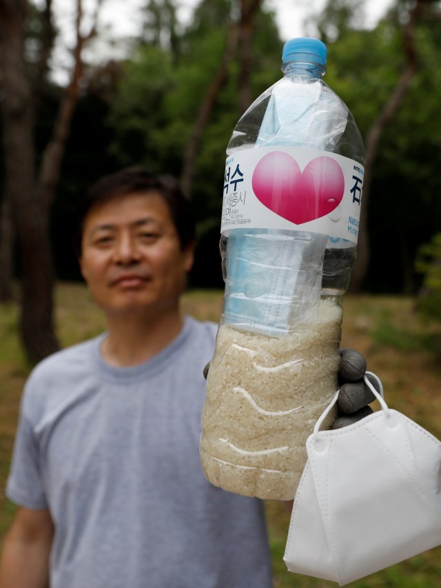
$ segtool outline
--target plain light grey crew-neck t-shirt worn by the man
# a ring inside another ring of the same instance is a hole
[[[263,504],[210,485],[198,444],[216,325],[185,319],[136,367],[103,336],[54,354],[25,387],[7,494],[49,508],[51,588],[269,588]]]

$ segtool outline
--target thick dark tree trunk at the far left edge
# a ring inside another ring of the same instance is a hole
[[[0,0],[6,194],[21,253],[20,332],[30,361],[59,345],[52,325],[52,261],[45,210],[35,198],[32,100],[23,59],[25,0]]]

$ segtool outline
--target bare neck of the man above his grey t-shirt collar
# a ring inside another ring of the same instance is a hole
[[[107,317],[108,336],[101,345],[101,355],[116,367],[139,365],[172,343],[183,322],[178,309],[156,316]]]

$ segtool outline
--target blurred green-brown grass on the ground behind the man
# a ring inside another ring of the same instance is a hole
[[[81,284],[61,283],[56,292],[56,324],[61,344],[72,345],[105,328],[88,291]],[[195,290],[183,297],[183,310],[203,320],[218,321],[222,293]],[[420,319],[411,298],[345,296],[342,347],[365,354],[368,369],[384,385],[389,405],[441,438],[441,325]],[[3,489],[17,423],[21,389],[30,367],[17,338],[17,307],[0,306],[0,541],[15,507]],[[267,502],[267,521],[274,565],[274,588],[335,587],[334,582],[290,574],[283,562],[289,513]],[[353,582],[355,588],[438,588],[441,547]],[[227,587],[225,587],[227,588]]]

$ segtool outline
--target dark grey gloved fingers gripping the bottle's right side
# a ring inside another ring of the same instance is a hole
[[[371,414],[373,411],[367,405],[375,400],[375,396],[363,380],[366,372],[366,360],[362,354],[355,349],[340,349],[340,356],[338,372],[340,394],[338,394],[337,401],[339,416],[332,425],[333,429],[346,427]],[[369,374],[367,378],[373,387],[380,392],[376,378]]]

